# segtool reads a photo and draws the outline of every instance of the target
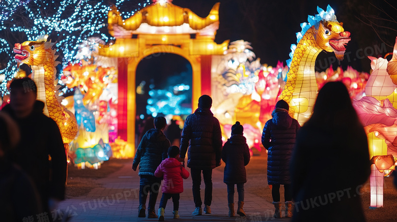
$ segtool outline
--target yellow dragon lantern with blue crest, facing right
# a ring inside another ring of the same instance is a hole
[[[345,54],[345,45],[350,33],[336,20],[333,9],[327,11],[317,7],[318,15],[308,16],[309,23],[301,23],[297,33],[298,45],[291,45],[291,59],[287,61],[290,71],[279,100],[290,105],[290,115],[302,125],[311,116],[317,97],[315,62],[317,55],[325,50],[334,52],[338,60]]]

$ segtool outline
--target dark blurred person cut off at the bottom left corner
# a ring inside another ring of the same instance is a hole
[[[15,164],[6,160],[19,142],[16,123],[0,112],[0,215],[2,221],[25,221],[42,212],[39,194],[31,179]]]

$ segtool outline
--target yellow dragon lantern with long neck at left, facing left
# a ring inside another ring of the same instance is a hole
[[[60,62],[55,61],[54,43],[47,42],[48,35],[40,36],[37,41],[26,41],[15,44],[15,59],[31,66],[32,79],[37,85],[37,99],[44,102],[44,114],[52,118],[61,131],[65,149],[77,135],[78,125],[73,113],[67,110],[56,96],[55,66]]]

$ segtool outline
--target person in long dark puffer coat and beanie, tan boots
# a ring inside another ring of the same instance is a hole
[[[267,153],[267,181],[272,185],[272,198],[275,207],[274,217],[281,218],[280,184],[284,185],[286,217],[292,217],[292,190],[290,162],[300,128],[298,121],[289,114],[286,101],[280,100],[262,133],[262,145]]]

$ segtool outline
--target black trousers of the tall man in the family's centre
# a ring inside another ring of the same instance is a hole
[[[212,169],[210,170],[190,169],[190,175],[193,183],[192,185],[193,200],[196,207],[201,207],[201,205],[203,204],[200,195],[202,171],[203,171],[203,179],[205,184],[204,204],[207,206],[211,206],[211,202],[212,202]]]

